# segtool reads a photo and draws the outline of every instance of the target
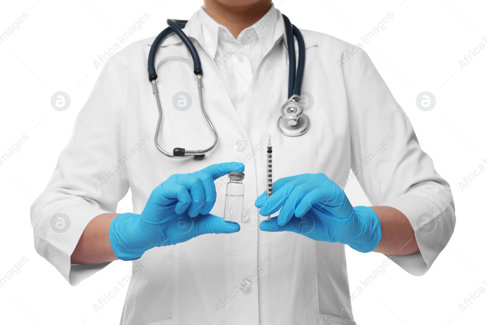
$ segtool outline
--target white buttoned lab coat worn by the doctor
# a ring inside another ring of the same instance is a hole
[[[202,46],[198,23],[188,23],[185,32],[201,57],[206,112],[219,135],[216,149],[200,161],[172,159],[156,150],[158,111],[146,66],[153,38],[121,50],[104,64],[48,187],[32,205],[40,255],[77,285],[103,268],[70,264],[79,236],[95,216],[115,212],[129,187],[133,212],[140,213],[150,191],[169,175],[240,161],[245,164],[244,214],[249,220],[238,233],[203,235],[150,249],[134,261],[134,265],[144,261],[144,266],[131,279],[121,324],[204,324],[208,319],[206,324],[222,325],[355,324],[351,308],[340,307],[350,293],[344,245],[259,230],[264,217],[254,201],[265,188],[263,144],[270,132],[275,179],[322,172],[344,185],[347,178],[358,178],[373,205],[402,211],[415,229],[421,252],[395,256],[394,262],[414,275],[431,267],[455,224],[450,188],[420,149],[411,122],[363,49],[302,30],[306,44],[302,90],[314,98],[306,112],[311,127],[302,136],[287,137],[276,126],[287,97],[283,33],[276,33],[274,46],[263,53],[265,62],[235,110],[216,64]],[[337,61],[347,54],[348,63],[340,69]],[[162,44],[156,63],[166,56],[190,59],[174,35]],[[172,61],[158,74],[164,114],[161,145],[167,151],[208,147],[213,134],[200,110],[192,69]],[[173,106],[173,96],[180,91],[192,97],[187,111]],[[357,170],[359,165],[362,168]],[[225,181],[216,181],[218,196],[212,210],[216,215],[223,215]],[[68,231],[58,233],[51,228],[56,213],[70,218]],[[435,220],[429,233],[418,226],[423,213]],[[250,282],[243,286],[250,287],[248,292],[241,288],[244,278]]]

